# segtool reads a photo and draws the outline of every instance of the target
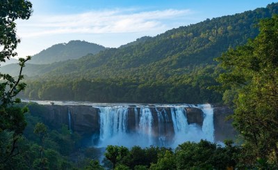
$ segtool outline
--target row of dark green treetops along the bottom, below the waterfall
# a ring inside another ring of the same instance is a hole
[[[106,159],[114,169],[227,169],[240,166],[242,148],[231,141],[225,147],[201,140],[171,148],[108,146]]]

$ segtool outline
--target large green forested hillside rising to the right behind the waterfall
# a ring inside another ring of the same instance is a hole
[[[218,102],[213,59],[259,33],[259,20],[278,13],[267,8],[205,20],[65,61],[28,82],[24,96],[41,100],[94,102]]]

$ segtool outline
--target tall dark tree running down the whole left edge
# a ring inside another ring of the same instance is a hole
[[[28,20],[32,13],[32,3],[26,0],[2,0],[0,6],[0,62],[5,62],[14,56],[17,56],[15,49],[20,39],[16,36],[15,20],[22,19]],[[11,142],[7,148],[1,147],[5,153],[1,152],[0,167],[4,166],[11,157],[18,155],[17,140],[20,138],[26,122],[24,121],[24,112],[26,109],[18,109],[12,107],[14,102],[20,102],[15,96],[22,91],[26,84],[21,80],[24,78],[22,75],[22,68],[25,62],[30,60],[31,56],[26,59],[19,59],[19,76],[17,79],[8,74],[0,73],[0,136],[10,137],[6,139]],[[3,134],[2,134],[3,133]],[[13,135],[8,135],[13,134]],[[1,138],[1,142],[4,138]]]

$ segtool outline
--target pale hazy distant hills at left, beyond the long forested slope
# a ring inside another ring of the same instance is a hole
[[[71,40],[68,43],[52,45],[51,47],[42,50],[42,52],[32,56],[31,61],[26,63],[23,74],[28,75],[28,77],[43,75],[44,73],[58,67],[60,61],[79,59],[87,54],[97,54],[104,49],[106,49],[106,47],[102,45],[81,40]],[[0,68],[0,71],[17,76],[19,74],[17,63],[18,60],[16,59],[10,59],[6,61],[6,63],[1,63],[3,67]]]

